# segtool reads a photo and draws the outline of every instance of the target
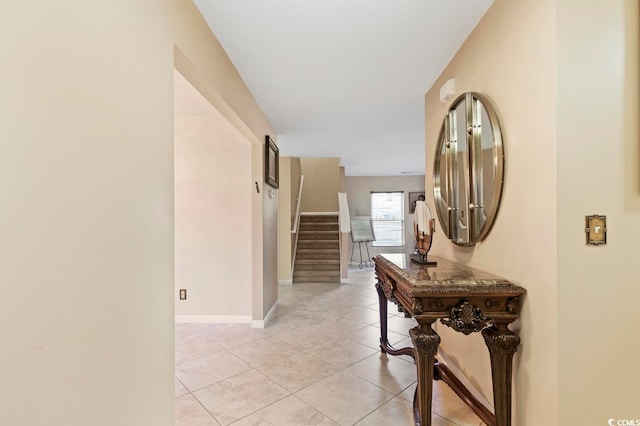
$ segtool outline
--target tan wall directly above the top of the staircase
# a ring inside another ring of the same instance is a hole
[[[340,187],[339,158],[301,158],[304,175],[302,212],[337,212]]]

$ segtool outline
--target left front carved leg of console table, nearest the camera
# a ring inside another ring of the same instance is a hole
[[[440,336],[431,328],[432,322],[421,323],[409,330],[415,347],[418,386],[413,400],[413,418],[417,426],[431,426],[431,396],[433,394],[433,363]]]

